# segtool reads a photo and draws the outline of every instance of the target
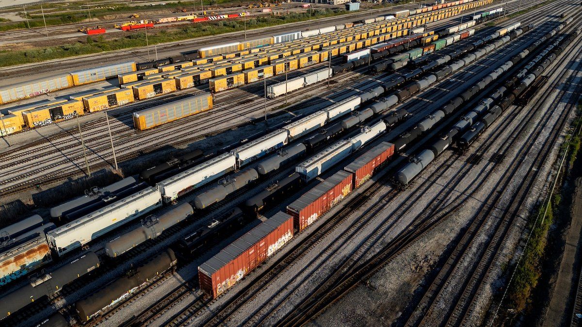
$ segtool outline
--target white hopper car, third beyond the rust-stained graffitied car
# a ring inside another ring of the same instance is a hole
[[[254,141],[250,141],[249,143],[232,150],[232,154],[235,155],[238,166],[242,167],[257,158],[263,157],[269,152],[281,148],[283,145],[287,144],[287,138],[288,131],[285,129],[272,131],[265,136],[259,137]]]

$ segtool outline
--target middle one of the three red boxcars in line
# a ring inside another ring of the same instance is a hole
[[[340,170],[287,206],[299,231],[311,225],[352,191],[352,173]]]

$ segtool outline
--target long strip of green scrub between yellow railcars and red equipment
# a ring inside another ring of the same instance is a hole
[[[313,10],[311,19],[322,17],[331,17],[342,15],[345,10]],[[285,23],[303,22],[309,19],[308,13],[290,13],[282,16],[264,16],[250,19],[246,22],[247,30],[258,29],[261,27],[275,26]],[[217,35],[233,31],[242,31],[244,29],[241,21],[218,21],[212,23],[190,24],[175,30],[153,30],[148,32],[148,42],[150,45],[181,41],[194,37],[203,37],[208,35]],[[17,50],[17,51],[0,51],[0,66],[11,66],[22,63],[40,62],[50,59],[66,58],[69,56],[95,54],[102,51],[113,51],[134,47],[144,47],[145,33],[139,31],[131,33],[125,37],[104,40],[100,35],[97,40],[93,37],[87,37],[84,42],[61,45],[59,47],[49,47],[42,49]]]

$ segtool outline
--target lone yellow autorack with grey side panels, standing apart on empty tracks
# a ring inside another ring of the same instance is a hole
[[[195,95],[134,112],[133,126],[137,130],[150,129],[209,109],[212,109],[212,94]]]

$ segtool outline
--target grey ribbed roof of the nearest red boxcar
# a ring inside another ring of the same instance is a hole
[[[283,223],[288,221],[289,218],[291,218],[290,215],[285,214],[284,212],[277,212],[274,216],[267,219],[267,221],[260,223],[255,228],[241,236],[238,240],[225,247],[218,254],[214,255],[214,257],[208,259],[204,264],[201,264],[199,269],[206,273],[206,275],[212,276],[212,274],[219,271],[223,266],[230,261],[235,260],[235,258],[243,254],[244,251],[249,250],[249,248],[257,244],[258,241],[279,228],[279,226],[283,225]]]

